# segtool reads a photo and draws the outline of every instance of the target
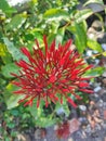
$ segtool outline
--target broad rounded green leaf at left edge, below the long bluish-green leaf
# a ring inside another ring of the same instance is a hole
[[[11,73],[18,74],[19,68],[14,64],[10,63],[1,67],[1,73],[6,78],[13,78]]]

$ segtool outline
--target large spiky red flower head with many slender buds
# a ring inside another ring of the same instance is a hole
[[[81,98],[76,94],[76,91],[92,93],[87,82],[89,78],[84,78],[83,74],[92,67],[85,65],[83,59],[80,59],[78,52],[71,50],[71,39],[64,46],[58,44],[56,48],[55,41],[48,47],[47,37],[43,36],[44,51],[39,47],[34,48],[34,53],[22,48],[21,51],[28,57],[28,62],[21,60],[16,65],[21,67],[19,75],[13,74],[17,79],[12,84],[19,87],[16,94],[24,94],[25,98],[19,102],[25,102],[24,105],[32,105],[34,99],[37,99],[37,107],[40,101],[45,101],[45,106],[51,102],[63,102],[63,97],[76,107],[76,103],[70,99],[74,94],[76,99]],[[70,94],[69,94],[70,93]]]

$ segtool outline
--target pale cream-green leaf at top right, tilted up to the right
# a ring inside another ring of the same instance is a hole
[[[78,11],[77,14],[75,14],[75,16],[74,16],[75,22],[80,23],[80,22],[87,20],[92,14],[93,14],[93,11],[91,9],[85,9],[85,10]]]

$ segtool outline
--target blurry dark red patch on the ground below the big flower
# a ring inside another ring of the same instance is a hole
[[[57,138],[67,138],[70,133],[69,131],[69,123],[65,121],[58,125],[57,129],[55,130]]]

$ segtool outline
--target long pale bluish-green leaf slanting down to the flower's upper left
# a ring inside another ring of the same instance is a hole
[[[13,60],[16,60],[16,61],[21,59],[26,60],[26,61],[28,60],[6,37],[3,38],[3,40],[6,46],[8,51],[12,54]]]

